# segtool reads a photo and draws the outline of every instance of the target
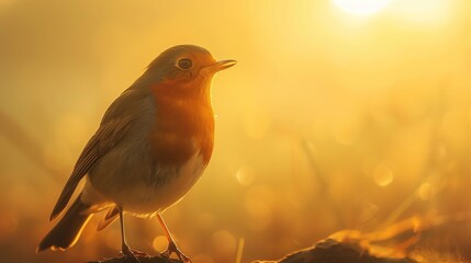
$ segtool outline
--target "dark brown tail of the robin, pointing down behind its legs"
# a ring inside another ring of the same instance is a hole
[[[66,250],[74,245],[80,237],[81,230],[91,218],[91,214],[87,213],[89,205],[80,201],[80,195],[67,210],[60,221],[46,235],[46,237],[37,245],[36,252],[46,249]]]

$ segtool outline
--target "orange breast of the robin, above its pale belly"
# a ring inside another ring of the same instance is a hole
[[[188,92],[188,88],[172,81],[150,88],[156,102],[150,153],[160,165],[182,165],[198,151],[204,164],[211,159],[214,142],[211,100],[202,92]]]

